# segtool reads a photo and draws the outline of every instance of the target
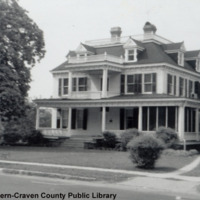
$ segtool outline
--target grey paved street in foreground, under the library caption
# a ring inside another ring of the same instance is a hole
[[[58,180],[43,177],[0,174],[0,199],[95,199],[172,200],[186,199],[126,188],[118,184]],[[188,199],[188,198],[187,198]]]

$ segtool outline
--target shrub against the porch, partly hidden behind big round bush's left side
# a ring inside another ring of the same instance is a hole
[[[140,136],[142,133],[137,129],[130,129],[121,134],[121,148],[123,151],[127,150],[127,144],[135,137]]]

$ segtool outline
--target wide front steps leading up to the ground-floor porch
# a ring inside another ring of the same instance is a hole
[[[71,137],[69,139],[66,139],[60,146],[66,147],[66,148],[84,148],[84,142],[91,142],[93,141],[93,138],[90,136],[85,137]]]

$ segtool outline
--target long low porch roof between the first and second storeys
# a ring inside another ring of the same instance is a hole
[[[200,107],[197,99],[176,97],[167,94],[133,94],[120,95],[102,99],[36,99],[34,102],[40,107],[121,107],[121,106],[180,106],[193,105]]]

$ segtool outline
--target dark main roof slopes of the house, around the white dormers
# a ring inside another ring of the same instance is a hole
[[[157,44],[154,42],[142,43],[137,40],[134,40],[134,42],[142,46],[144,50],[138,54],[137,62],[124,63],[124,65],[168,63],[168,64],[175,65],[177,67],[181,67],[177,64],[177,61],[166,51],[181,49],[183,47],[183,42],[171,43],[171,44]],[[113,45],[113,46],[104,46],[104,47],[98,47],[98,48],[94,48],[86,44],[82,44],[82,45],[84,46],[84,48],[86,48],[90,52],[93,52],[95,55],[104,54],[106,52],[108,55],[113,55],[116,57],[121,57],[121,56],[124,57],[124,54],[125,54],[123,44]],[[68,55],[73,57],[76,55],[76,53],[75,51],[70,51]],[[197,51],[186,52],[186,56],[188,55],[197,55]],[[56,67],[55,69],[53,69],[52,71],[66,70],[67,65],[73,66],[74,64],[68,63],[68,61],[66,61],[62,63],[61,65],[59,65],[58,67]],[[187,62],[184,62],[184,68],[191,71],[195,71],[195,69]]]

